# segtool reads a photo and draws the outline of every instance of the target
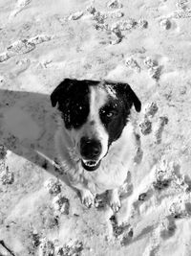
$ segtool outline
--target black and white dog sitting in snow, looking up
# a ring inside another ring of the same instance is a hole
[[[55,133],[59,164],[90,207],[108,191],[109,204],[120,208],[123,185],[137,151],[130,113],[141,103],[128,83],[65,79],[51,94],[60,114]]]

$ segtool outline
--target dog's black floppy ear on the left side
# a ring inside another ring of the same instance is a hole
[[[69,88],[73,84],[74,80],[65,79],[64,81],[61,81],[59,85],[57,85],[57,87],[53,90],[53,93],[51,94],[51,103],[53,106],[57,104],[59,99],[66,98]]]

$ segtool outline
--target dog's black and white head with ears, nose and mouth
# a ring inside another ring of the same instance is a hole
[[[74,143],[83,168],[95,171],[116,141],[132,105],[140,111],[137,95],[127,83],[110,81],[62,81],[51,95]]]

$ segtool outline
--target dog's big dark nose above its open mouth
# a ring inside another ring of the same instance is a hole
[[[101,144],[96,139],[82,137],[80,141],[80,153],[85,159],[97,159],[101,153]]]

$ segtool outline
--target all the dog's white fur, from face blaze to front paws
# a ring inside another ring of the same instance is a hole
[[[69,176],[71,185],[80,191],[82,201],[90,205],[94,202],[94,195],[109,190],[110,204],[117,211],[120,207],[117,190],[123,185],[127,172],[131,169],[137,146],[134,129],[129,122],[105,155],[108,134],[99,120],[98,109],[104,105],[106,94],[100,87],[92,87],[90,114],[86,124],[79,130],[67,130],[60,119],[55,134],[55,149],[62,169]],[[84,132],[89,132],[90,136],[96,132],[94,135],[101,141],[103,148],[99,157],[102,158],[100,166],[93,172],[84,170],[81,165],[78,142]]]

